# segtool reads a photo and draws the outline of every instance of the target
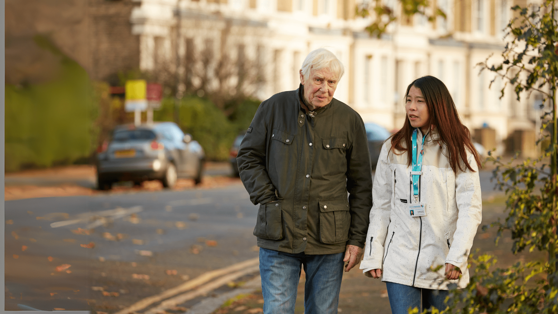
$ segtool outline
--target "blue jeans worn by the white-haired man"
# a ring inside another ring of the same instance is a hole
[[[335,314],[339,303],[345,253],[306,255],[259,248],[263,313],[295,312],[301,266],[306,273],[305,314]]]

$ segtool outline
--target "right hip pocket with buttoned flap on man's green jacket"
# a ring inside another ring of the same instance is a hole
[[[320,204],[320,241],[326,244],[349,240],[349,202],[344,199],[326,199]]]

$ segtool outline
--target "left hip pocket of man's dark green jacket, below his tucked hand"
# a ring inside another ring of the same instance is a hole
[[[259,205],[254,235],[268,240],[283,239],[283,214],[281,199]]]

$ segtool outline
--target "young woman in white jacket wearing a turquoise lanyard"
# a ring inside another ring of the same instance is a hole
[[[448,283],[466,287],[482,215],[480,156],[448,88],[422,77],[407,87],[405,99],[405,123],[378,159],[360,263],[368,277],[386,282],[393,314],[421,306],[444,310]],[[437,265],[444,267],[432,272]]]

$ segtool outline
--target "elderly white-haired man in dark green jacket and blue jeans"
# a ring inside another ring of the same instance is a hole
[[[305,313],[337,313],[343,262],[348,272],[362,257],[371,165],[362,118],[333,98],[343,72],[329,50],[312,51],[299,89],[262,102],[240,144],[240,178],[260,204],[254,235],[266,314],[294,313],[301,266]]]

